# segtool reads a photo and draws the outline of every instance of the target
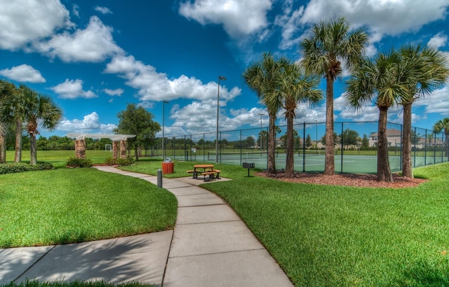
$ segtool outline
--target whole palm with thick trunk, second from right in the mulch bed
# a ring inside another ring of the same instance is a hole
[[[387,54],[379,53],[373,59],[363,59],[347,81],[348,106],[361,109],[364,104],[375,99],[379,109],[377,181],[393,182],[388,158],[387,113],[389,107],[398,103],[403,94],[403,87],[398,83],[400,62],[401,56],[396,50]]]

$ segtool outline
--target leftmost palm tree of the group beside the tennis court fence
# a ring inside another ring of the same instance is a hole
[[[276,77],[279,76],[281,67],[288,63],[286,57],[281,59],[274,59],[271,53],[264,53],[262,59],[256,62],[252,66],[249,66],[246,71],[243,72],[243,78],[250,87],[251,90],[257,93],[257,97],[262,100],[265,106],[267,106],[269,116],[268,127],[268,166],[267,173],[276,174],[276,113],[281,107],[279,97],[272,97],[268,100],[268,94],[274,94],[277,89]]]

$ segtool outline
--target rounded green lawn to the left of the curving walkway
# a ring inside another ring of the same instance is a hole
[[[176,213],[176,198],[168,190],[93,168],[0,176],[0,247],[168,230]]]

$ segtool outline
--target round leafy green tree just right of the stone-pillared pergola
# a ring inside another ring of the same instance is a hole
[[[133,134],[135,137],[128,139],[129,145],[134,146],[135,160],[139,160],[139,149],[152,146],[156,141],[156,132],[161,130],[161,125],[153,121],[152,113],[142,106],[128,104],[125,111],[117,114],[119,125],[114,132],[117,134]]]

